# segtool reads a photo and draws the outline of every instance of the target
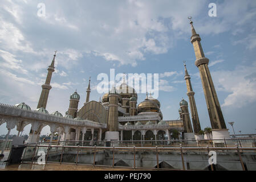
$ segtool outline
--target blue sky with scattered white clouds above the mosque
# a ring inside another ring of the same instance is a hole
[[[41,4],[40,4],[41,3]],[[42,16],[40,5],[45,6]],[[215,3],[217,16],[209,16]],[[196,56],[190,43],[192,16],[201,36],[226,126],[233,134],[256,133],[256,1],[36,1],[2,0],[0,7],[0,102],[25,102],[35,110],[54,51],[46,109],[68,110],[72,93],[99,101],[100,73],[158,73],[164,120],[179,117],[186,96],[184,64],[191,77],[202,129],[210,126]],[[138,104],[145,93],[138,94]],[[24,133],[29,133],[29,126]],[[6,134],[6,124],[0,134]],[[17,134],[12,130],[11,134]],[[50,133],[45,127],[41,134]]]

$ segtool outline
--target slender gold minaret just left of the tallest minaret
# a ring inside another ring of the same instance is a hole
[[[184,67],[185,67],[186,89],[188,90],[188,92],[186,94],[189,97],[189,105],[190,105],[194,133],[198,134],[198,132],[201,130],[201,126],[200,126],[200,122],[199,122],[199,118],[198,118],[196,101],[194,100],[194,92],[193,92],[192,85],[190,82],[190,75],[188,73],[188,70],[186,69],[185,62],[184,62]]]

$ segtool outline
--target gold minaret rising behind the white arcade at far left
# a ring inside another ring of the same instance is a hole
[[[52,59],[51,65],[48,67],[48,74],[46,77],[46,82],[42,85],[42,92],[41,92],[41,95],[39,98],[37,109],[40,107],[43,107],[44,109],[46,109],[49,92],[51,90],[50,82],[51,82],[52,72],[54,72],[54,61],[55,61],[56,52],[57,51],[55,51],[54,59]]]

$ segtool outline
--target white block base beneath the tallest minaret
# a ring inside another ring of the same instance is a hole
[[[224,138],[230,139],[229,129],[212,130],[212,134],[213,134],[213,144],[216,147],[218,147],[218,146],[224,147],[225,146]]]

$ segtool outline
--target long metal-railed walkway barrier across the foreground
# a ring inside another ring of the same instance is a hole
[[[43,151],[43,152],[42,152]],[[209,163],[209,152],[217,163]],[[255,147],[98,147],[26,144],[22,163],[45,163],[168,170],[256,170]]]

